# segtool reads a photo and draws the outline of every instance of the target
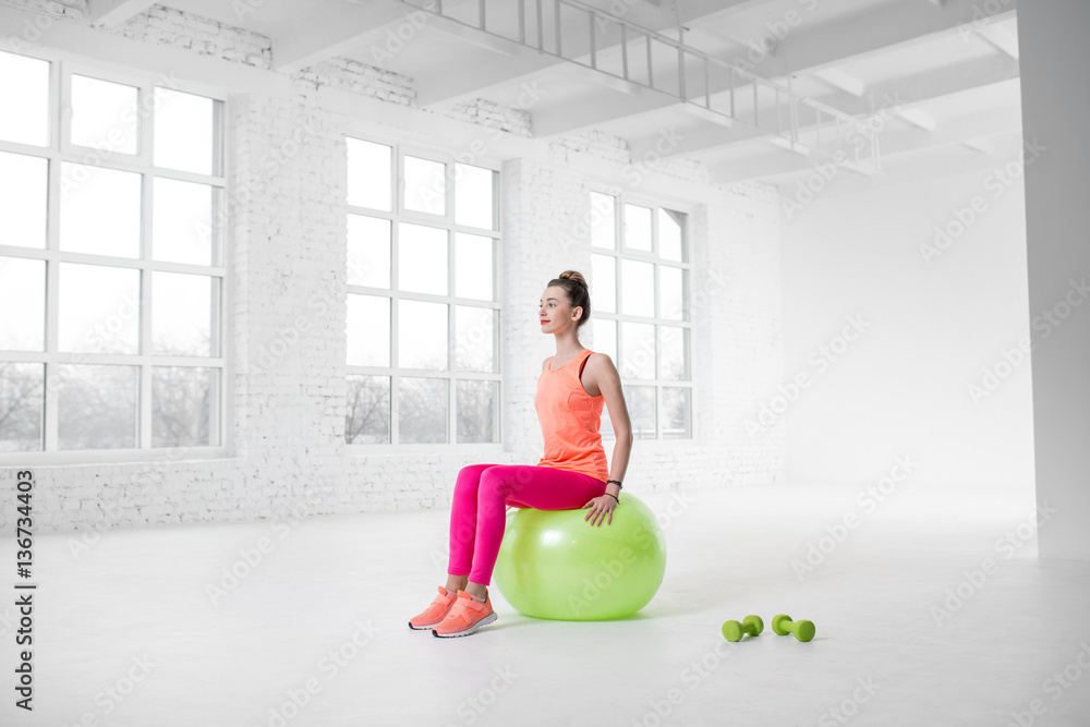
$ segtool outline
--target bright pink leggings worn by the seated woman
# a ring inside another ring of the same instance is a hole
[[[470,464],[458,473],[450,507],[447,572],[488,585],[504,541],[508,505],[537,510],[576,510],[606,492],[589,474],[526,464]],[[472,568],[472,570],[471,570]]]

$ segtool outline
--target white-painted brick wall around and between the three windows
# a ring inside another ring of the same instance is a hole
[[[64,12],[81,11],[82,4],[65,3]],[[119,32],[240,64],[269,63],[266,38],[160,7]],[[181,70],[179,75],[184,77]],[[164,451],[155,462],[36,467],[43,530],[86,534],[291,513],[447,508],[458,470],[482,461],[461,452],[358,457],[343,444],[343,137],[354,120],[319,107],[317,89],[325,85],[402,107],[415,105],[411,80],[341,60],[296,74],[282,97],[232,96],[231,304],[225,340],[231,362],[227,438],[234,456],[182,461]],[[531,135],[530,112],[488,101],[434,116],[436,136],[444,118],[479,124],[493,137]],[[533,313],[545,283],[561,270],[571,267],[591,277],[588,242],[577,233],[589,213],[590,181],[571,163],[588,155],[621,165],[632,161],[623,140],[590,132],[554,142],[547,158],[512,158],[502,165],[506,436],[505,451],[491,461],[534,463],[541,457],[533,395],[541,362],[554,351]],[[281,159],[272,170],[270,158]],[[706,167],[688,160],[670,160],[651,173],[707,180]],[[631,492],[783,476],[783,433],[751,439],[740,428],[741,419],[783,377],[778,201],[774,191],[760,185],[722,191],[715,199],[694,214],[699,439],[679,447],[637,443],[626,476]],[[582,338],[594,348],[590,327]],[[15,471],[5,468],[0,476],[10,482]],[[9,498],[0,508],[0,526],[10,526],[12,517]]]

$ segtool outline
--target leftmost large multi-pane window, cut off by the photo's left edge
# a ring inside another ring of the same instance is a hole
[[[191,92],[0,52],[0,452],[221,446],[223,102]]]

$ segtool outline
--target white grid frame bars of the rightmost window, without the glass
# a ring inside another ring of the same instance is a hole
[[[693,278],[695,275],[695,240],[693,235],[693,218],[698,213],[701,205],[694,204],[692,202],[682,201],[678,198],[669,198],[665,195],[632,191],[628,189],[618,189],[616,185],[603,184],[603,183],[591,183],[586,185],[585,193],[588,198],[589,209],[591,214],[594,214],[593,203],[591,203],[591,193],[597,193],[606,195],[614,198],[614,234],[616,246],[613,249],[608,247],[597,247],[590,242],[590,234],[588,235],[588,250],[590,255],[605,255],[614,259],[614,270],[615,270],[615,282],[616,282],[616,307],[617,312],[601,312],[597,308],[592,313],[592,320],[598,318],[601,320],[613,320],[617,326],[617,358],[619,359],[622,350],[622,326],[623,323],[633,324],[644,324],[653,325],[655,328],[655,378],[653,379],[626,379],[623,377],[623,371],[617,361],[614,365],[617,367],[618,374],[621,375],[621,386],[627,387],[654,387],[655,388],[655,437],[646,439],[634,439],[639,441],[641,446],[651,445],[654,447],[668,447],[668,448],[687,448],[695,447],[697,441],[700,437],[698,421],[699,421],[699,397],[698,397],[698,386],[697,386],[697,371],[695,363],[693,360],[693,330],[694,322],[692,319],[692,287]],[[652,220],[652,235],[651,235],[651,251],[640,251],[640,250],[626,250],[625,246],[625,205],[638,205],[641,207],[651,208],[651,220]],[[659,208],[669,209],[671,211],[682,213],[685,218],[685,227],[682,229],[682,260],[673,260],[663,258],[661,256],[661,239],[658,231],[658,215],[657,210]],[[623,281],[621,275],[620,260],[632,259],[641,263],[650,263],[654,267],[654,298],[655,298],[655,315],[653,317],[645,316],[634,316],[631,314],[621,313],[621,301],[623,300]],[[670,318],[664,318],[662,316],[662,287],[661,287],[661,268],[663,265],[668,267],[677,267],[687,271],[685,275],[686,283],[682,295],[682,305],[685,311],[689,313],[689,317],[686,319],[682,316],[681,320],[674,320]],[[593,278],[591,279],[591,286],[595,284]],[[671,326],[677,328],[686,329],[688,337],[688,363],[689,363],[689,378],[682,380],[671,380],[659,378],[662,372],[662,341],[659,339],[659,327],[661,326]],[[689,436],[678,437],[678,438],[667,438],[663,436],[663,389],[664,388],[686,388],[689,389]],[[616,434],[613,429],[613,423],[610,422],[609,432],[603,433],[603,443],[616,441]]]

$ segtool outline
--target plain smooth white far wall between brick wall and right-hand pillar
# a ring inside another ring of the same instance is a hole
[[[786,368],[812,375],[786,413],[791,480],[875,483],[908,457],[917,485],[1031,487],[1019,141],[978,156],[972,171],[900,182],[895,171],[862,191],[839,193],[836,182],[858,183],[835,180],[785,209]],[[1007,186],[995,172],[1013,160]],[[956,234],[958,214],[976,219],[941,250],[935,228]],[[862,332],[837,341],[852,317]],[[821,352],[834,344],[838,355]],[[1009,371],[1005,351],[1019,364]],[[1007,376],[992,389],[996,367]]]

